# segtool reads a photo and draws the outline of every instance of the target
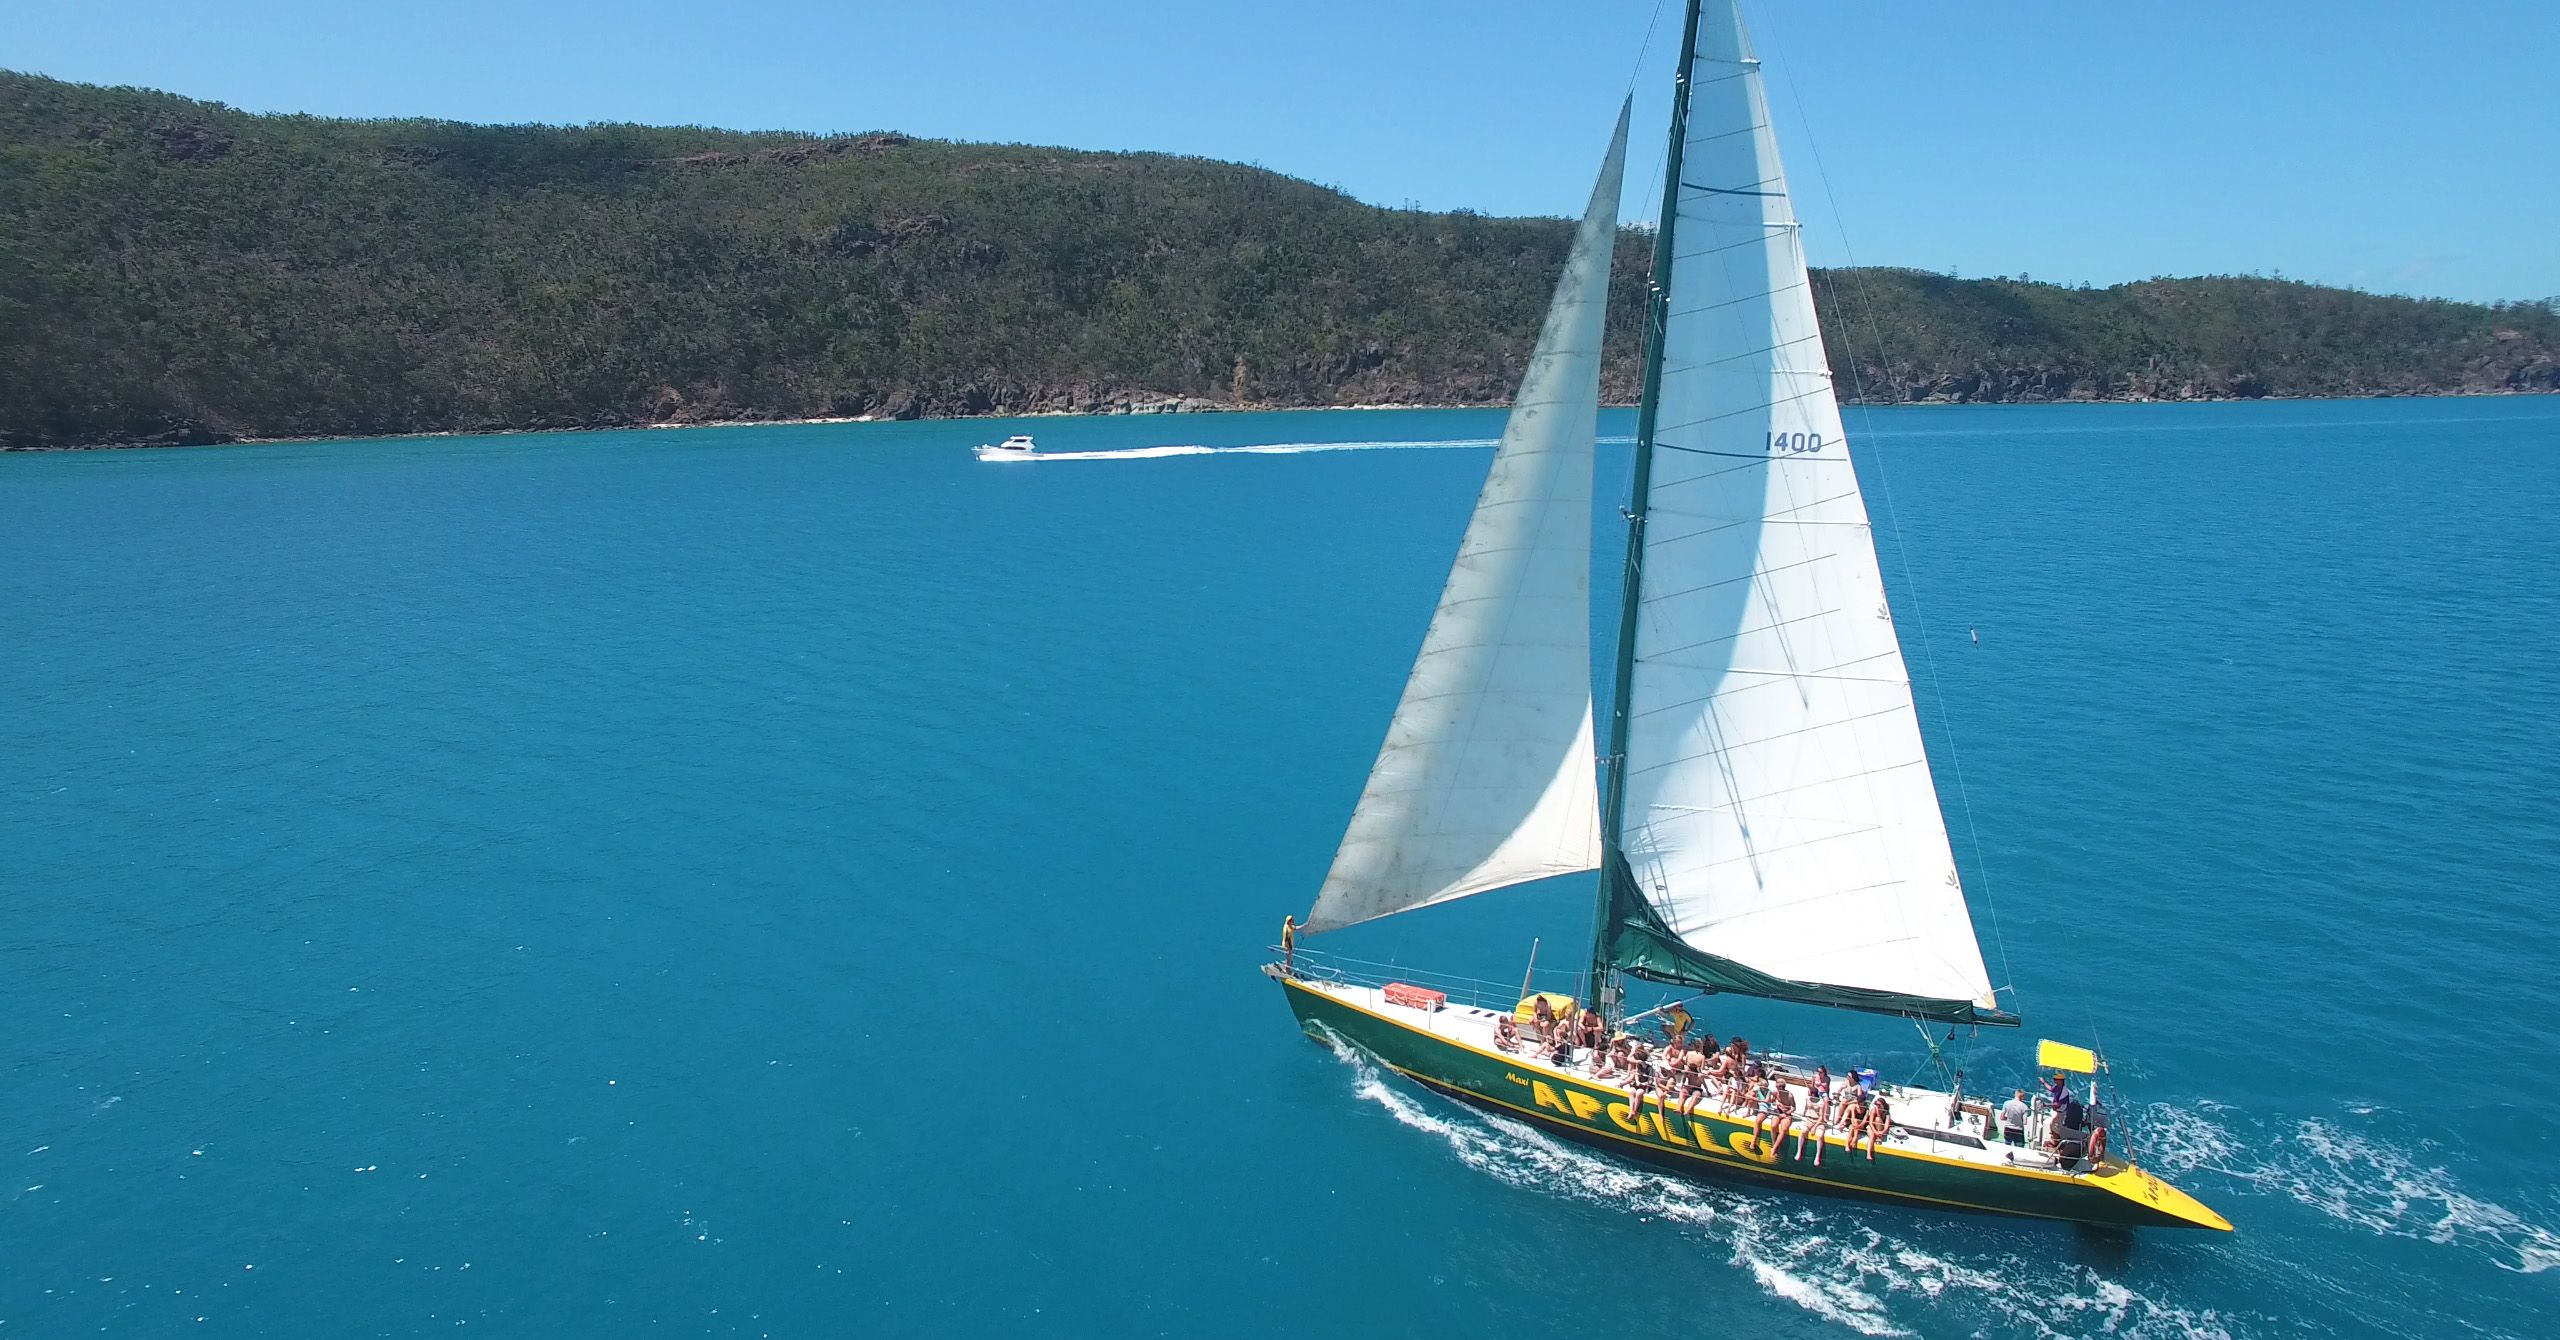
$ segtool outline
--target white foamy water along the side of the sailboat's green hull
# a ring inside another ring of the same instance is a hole
[[[1441,1140],[1459,1163],[1508,1186],[1679,1225],[1723,1250],[1769,1296],[1859,1335],[1999,1332],[2220,1337],[2230,1320],[2150,1299],[2089,1266],[1992,1253],[1953,1261],[1861,1225],[1841,1202],[1782,1202],[1679,1181],[1585,1153],[1533,1127],[1405,1089],[1367,1056],[1331,1043],[1354,1094]]]

